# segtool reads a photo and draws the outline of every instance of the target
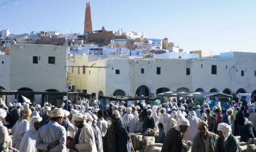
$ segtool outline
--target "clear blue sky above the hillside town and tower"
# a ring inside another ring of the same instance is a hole
[[[0,4],[8,0],[0,0]],[[0,7],[0,30],[82,33],[82,0],[17,0]],[[185,51],[256,52],[256,1],[91,0],[93,30],[145,32]]]

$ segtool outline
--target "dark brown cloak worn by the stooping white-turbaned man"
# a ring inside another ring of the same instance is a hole
[[[182,133],[171,128],[165,136],[161,152],[181,152],[182,148]]]

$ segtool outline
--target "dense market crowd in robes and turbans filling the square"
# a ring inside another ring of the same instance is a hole
[[[133,150],[130,134],[150,128],[162,151],[182,151],[182,142],[191,141],[192,152],[235,152],[240,151],[235,136],[247,142],[256,136],[255,125],[256,105],[246,109],[235,101],[226,111],[219,103],[211,109],[207,102],[200,106],[179,98],[159,105],[115,101],[107,108],[97,98],[68,100],[60,108],[1,102],[0,150],[126,152]]]

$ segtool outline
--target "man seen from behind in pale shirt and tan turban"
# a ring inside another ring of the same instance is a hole
[[[41,126],[37,132],[35,147],[38,150],[66,152],[66,130],[60,125],[63,122],[64,112],[60,108],[55,108],[49,116],[51,121]]]

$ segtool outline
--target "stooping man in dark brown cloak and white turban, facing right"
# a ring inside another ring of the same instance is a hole
[[[179,119],[178,125],[171,128],[166,134],[161,152],[181,152],[183,134],[187,131],[188,126],[190,126],[190,122],[187,119]]]

